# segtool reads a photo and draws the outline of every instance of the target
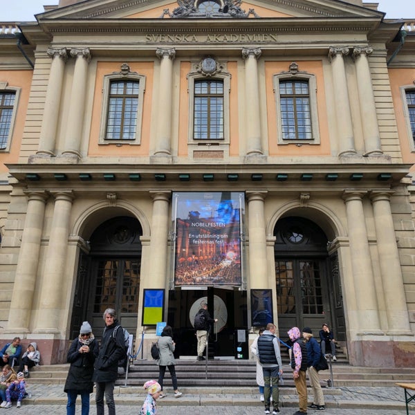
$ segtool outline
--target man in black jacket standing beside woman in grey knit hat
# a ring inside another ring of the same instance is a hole
[[[116,415],[114,385],[118,377],[118,361],[124,358],[127,350],[124,346],[124,330],[116,320],[116,311],[113,308],[107,308],[102,317],[104,317],[105,329],[93,372],[93,381],[96,382],[95,402],[97,415],[104,415],[105,394],[108,414]]]

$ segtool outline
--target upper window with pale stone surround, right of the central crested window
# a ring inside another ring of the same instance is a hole
[[[316,80],[290,71],[274,75],[278,144],[320,144]]]

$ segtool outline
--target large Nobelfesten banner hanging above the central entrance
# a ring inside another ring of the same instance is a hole
[[[174,194],[176,286],[240,286],[243,192]]]

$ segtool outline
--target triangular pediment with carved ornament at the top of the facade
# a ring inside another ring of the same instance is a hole
[[[359,0],[86,0],[37,15],[37,19],[275,19],[382,17]],[[217,6],[214,6],[217,3]],[[212,7],[213,4],[213,7]],[[373,5],[373,3],[370,3]]]

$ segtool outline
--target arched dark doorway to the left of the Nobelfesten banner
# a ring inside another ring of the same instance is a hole
[[[118,216],[95,229],[89,241],[89,253],[80,253],[71,338],[88,320],[95,336],[104,329],[102,313],[115,308],[118,320],[130,333],[136,333],[142,228],[137,219]]]

